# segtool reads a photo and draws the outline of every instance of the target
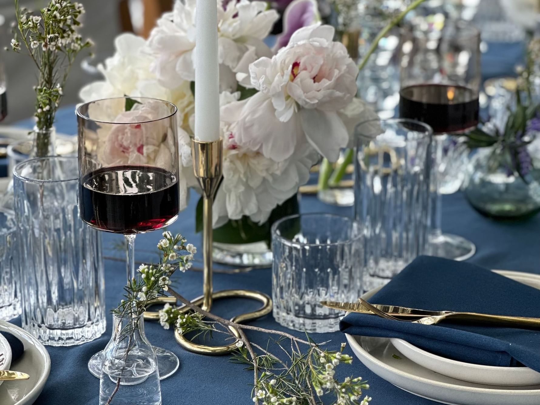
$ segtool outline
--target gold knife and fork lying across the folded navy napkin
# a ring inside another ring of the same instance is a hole
[[[399,321],[409,321],[422,323],[423,325],[436,325],[443,320],[460,320],[495,323],[500,326],[540,328],[540,318],[529,318],[525,316],[507,316],[479,314],[475,312],[456,311],[424,311],[423,309],[406,308],[394,305],[377,305],[362,302],[333,302],[321,301],[321,305],[341,311],[358,312],[363,314],[376,314],[382,318],[390,318]],[[367,304],[377,310],[370,310]],[[382,315],[381,312],[384,314]],[[386,315],[386,316],[385,316]],[[415,318],[412,320],[411,318]],[[420,319],[418,319],[420,318]]]

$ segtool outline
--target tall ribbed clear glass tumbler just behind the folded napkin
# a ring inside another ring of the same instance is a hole
[[[355,130],[355,218],[365,227],[365,291],[424,253],[429,225],[431,128],[409,119]]]

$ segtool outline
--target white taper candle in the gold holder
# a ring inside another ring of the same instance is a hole
[[[195,11],[195,138],[219,139],[217,0],[197,0]]]

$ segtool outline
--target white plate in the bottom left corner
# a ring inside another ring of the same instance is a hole
[[[10,369],[30,375],[28,380],[4,381],[0,386],[0,404],[31,405],[45,386],[51,370],[51,360],[45,347],[23,329],[0,321],[0,331],[9,332],[24,346],[24,353],[11,363]]]

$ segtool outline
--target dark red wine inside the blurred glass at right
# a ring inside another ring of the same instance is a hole
[[[434,133],[460,133],[478,124],[478,92],[464,86],[420,84],[400,91],[400,117],[419,120]]]

